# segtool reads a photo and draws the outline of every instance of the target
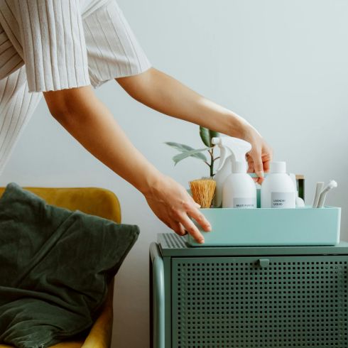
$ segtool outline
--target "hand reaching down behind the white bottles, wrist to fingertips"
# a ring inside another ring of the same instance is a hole
[[[259,178],[254,178],[254,181],[261,184],[263,182],[263,173],[268,172],[269,164],[272,161],[272,149],[252,126],[246,126],[243,139],[251,143],[251,151],[246,154],[246,159],[249,163],[248,172],[256,173]]]

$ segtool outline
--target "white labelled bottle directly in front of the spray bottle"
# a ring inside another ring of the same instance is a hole
[[[222,207],[251,209],[256,208],[256,185],[251,176],[246,173],[246,161],[232,161],[230,174],[222,187]]]

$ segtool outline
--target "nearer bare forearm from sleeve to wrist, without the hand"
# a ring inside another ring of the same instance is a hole
[[[51,114],[115,173],[146,193],[161,173],[133,146],[91,87],[45,92]]]

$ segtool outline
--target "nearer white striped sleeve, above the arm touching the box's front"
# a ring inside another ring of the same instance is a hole
[[[79,0],[17,0],[16,9],[29,92],[89,85]]]

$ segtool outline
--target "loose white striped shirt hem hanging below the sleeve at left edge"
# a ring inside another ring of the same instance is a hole
[[[0,175],[41,97],[28,92],[24,67],[0,80]]]

